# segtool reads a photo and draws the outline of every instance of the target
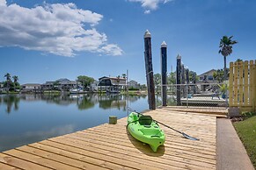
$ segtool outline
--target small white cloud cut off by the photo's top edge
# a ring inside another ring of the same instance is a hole
[[[157,10],[159,4],[166,4],[172,0],[129,0],[130,2],[138,2],[145,9],[144,13],[149,14],[150,11]]]

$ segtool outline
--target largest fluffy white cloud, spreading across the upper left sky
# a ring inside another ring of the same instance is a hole
[[[118,45],[108,44],[95,25],[102,15],[77,9],[76,4],[44,4],[32,9],[0,0],[0,46],[74,56],[76,52],[121,55]]]

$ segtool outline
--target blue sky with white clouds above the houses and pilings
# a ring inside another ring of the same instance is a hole
[[[43,83],[126,73],[145,83],[143,34],[152,37],[154,74],[167,43],[168,72],[223,68],[223,35],[238,44],[227,62],[255,60],[255,0],[0,0],[0,81]]]

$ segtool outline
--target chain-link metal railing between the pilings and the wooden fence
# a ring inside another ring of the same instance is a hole
[[[196,83],[165,85],[167,89],[167,106],[188,107],[228,107],[229,91],[222,83]],[[157,94],[161,94],[161,86],[157,86]],[[162,105],[161,96],[157,96],[157,105]]]

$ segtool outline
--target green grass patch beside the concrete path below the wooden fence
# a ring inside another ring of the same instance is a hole
[[[245,120],[234,123],[234,127],[256,169],[256,113],[247,112],[244,116]]]

